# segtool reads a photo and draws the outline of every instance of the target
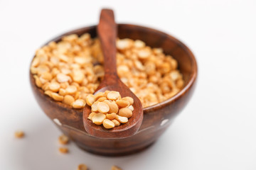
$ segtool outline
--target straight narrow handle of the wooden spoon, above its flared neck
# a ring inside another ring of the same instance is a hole
[[[114,22],[114,12],[111,9],[102,9],[97,34],[104,56],[105,77],[117,76],[117,24]]]

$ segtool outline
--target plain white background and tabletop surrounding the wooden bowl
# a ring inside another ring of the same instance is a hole
[[[65,31],[97,24],[100,8],[119,23],[149,26],[183,41],[198,60],[190,103],[155,145],[129,157],[100,157],[60,132],[28,83],[35,50]],[[0,0],[0,169],[256,169],[256,1]],[[15,130],[26,137],[14,138]]]

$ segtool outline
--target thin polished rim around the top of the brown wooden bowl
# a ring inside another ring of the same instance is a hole
[[[181,42],[177,38],[174,38],[174,36],[172,36],[172,35],[164,33],[161,30],[156,30],[154,28],[149,28],[149,27],[139,26],[139,25],[134,25],[134,24],[129,24],[129,23],[118,23],[117,26],[131,26],[131,27],[134,27],[134,28],[146,29],[146,30],[149,30],[150,32],[154,32],[154,33],[157,33],[157,34],[164,35],[164,36],[166,36],[166,38],[169,38],[169,39],[173,40],[174,42],[176,42],[177,45],[182,46],[183,50],[185,50],[187,52],[188,56],[191,59],[192,73],[191,73],[191,76],[188,79],[188,83],[186,84],[186,86],[183,86],[181,91],[178,91],[178,93],[175,94],[174,96],[172,96],[171,98],[168,98],[165,101],[162,101],[161,103],[156,103],[152,106],[147,106],[146,108],[143,108],[144,114],[149,113],[149,111],[158,110],[160,108],[163,108],[166,105],[169,105],[169,104],[173,103],[174,101],[178,100],[178,98],[181,98],[181,96],[186,94],[189,91],[189,89],[191,89],[191,86],[193,86],[194,82],[196,81],[197,75],[198,75],[198,66],[197,66],[197,63],[196,63],[196,57],[193,55],[193,52],[191,52],[191,50],[183,42]],[[67,31],[65,33],[62,33],[62,34],[58,35],[55,38],[52,38],[51,40],[48,40],[48,42],[44,43],[41,47],[43,47],[44,45],[47,45],[49,42],[52,42],[52,41],[56,42],[56,41],[60,40],[60,38],[62,38],[65,35],[70,35],[72,33],[77,33],[79,31],[82,31],[82,30],[85,30],[85,29],[95,29],[95,28],[96,28],[96,26],[85,26],[85,27],[82,27],[82,28],[77,28],[77,29]],[[34,57],[36,57],[36,55],[34,55],[33,58]],[[31,60],[31,63],[32,62],[33,62],[33,59]],[[30,64],[30,67],[31,67],[31,64]],[[29,69],[29,73],[30,73],[31,77],[33,77],[33,74],[31,73],[30,69]],[[33,86],[36,86],[35,81],[32,81],[32,82],[33,82]],[[38,86],[36,86],[36,88],[44,94],[43,89],[39,88]],[[46,96],[46,98],[47,97],[50,98],[49,96]],[[53,98],[50,98],[50,100],[54,101]],[[59,101],[54,101],[54,103],[58,104],[58,106],[63,107],[63,108],[72,108],[70,106],[67,106],[65,103],[61,103]],[[72,108],[72,109],[74,109],[74,108]],[[75,110],[76,111],[79,111],[79,110],[82,111],[83,108],[75,109]]]

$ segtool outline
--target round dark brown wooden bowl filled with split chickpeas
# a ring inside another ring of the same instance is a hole
[[[96,37],[96,26],[80,28],[63,35],[73,33],[78,35],[90,33],[93,38]],[[50,41],[58,42],[63,35]],[[183,79],[185,80],[185,86],[178,94],[166,101],[143,109],[144,118],[142,125],[132,137],[101,139],[90,136],[85,131],[82,123],[82,109],[71,108],[43,94],[43,90],[36,86],[33,75],[30,72],[33,94],[36,96],[36,100],[43,111],[53,120],[55,125],[82,149],[106,156],[136,153],[155,142],[166,128],[173,123],[174,118],[186,106],[186,103],[188,103],[196,86],[198,72],[196,59],[191,50],[171,35],[142,26],[119,24],[118,37],[142,40],[150,47],[161,47],[165,54],[173,56],[178,61],[178,69],[183,74]]]

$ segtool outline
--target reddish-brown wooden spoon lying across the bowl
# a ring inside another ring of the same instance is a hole
[[[90,106],[86,105],[83,110],[83,125],[85,130],[92,136],[102,138],[124,138],[134,135],[142,125],[143,110],[139,98],[120,81],[117,76],[116,61],[116,39],[117,25],[114,23],[114,12],[110,9],[102,9],[100,13],[100,23],[97,26],[97,35],[100,38],[102,52],[104,55],[105,76],[95,94],[102,91],[119,91],[122,97],[130,96],[134,99],[134,111],[127,123],[107,130],[103,125],[95,125],[92,120],[87,119],[91,113]]]

